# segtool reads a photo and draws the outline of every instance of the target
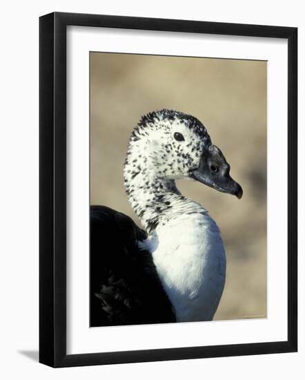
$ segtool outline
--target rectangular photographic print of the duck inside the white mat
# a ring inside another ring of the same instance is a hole
[[[90,327],[266,318],[266,76],[90,52]]]

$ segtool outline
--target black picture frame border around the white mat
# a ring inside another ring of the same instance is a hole
[[[66,354],[66,27],[273,37],[288,41],[288,340]],[[52,367],[297,351],[297,28],[55,12],[39,19],[39,361]]]

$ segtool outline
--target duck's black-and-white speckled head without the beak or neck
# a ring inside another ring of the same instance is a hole
[[[196,117],[171,110],[148,113],[130,137],[126,162],[132,165],[125,176],[137,175],[144,163],[148,175],[157,178],[188,177],[209,144],[210,136]]]

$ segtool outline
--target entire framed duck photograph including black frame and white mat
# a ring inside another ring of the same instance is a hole
[[[297,351],[297,28],[39,25],[39,361]]]

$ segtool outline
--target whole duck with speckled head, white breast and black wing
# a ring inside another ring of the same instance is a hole
[[[177,189],[180,179],[243,195],[196,117],[169,109],[142,116],[124,162],[141,227],[90,207],[91,327],[213,320],[226,281],[224,243],[208,211]]]

